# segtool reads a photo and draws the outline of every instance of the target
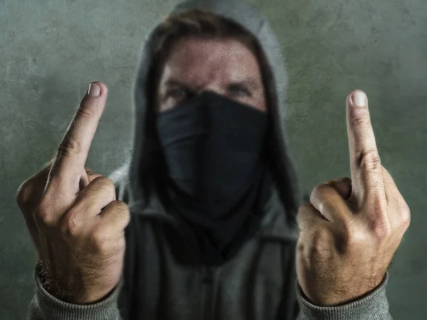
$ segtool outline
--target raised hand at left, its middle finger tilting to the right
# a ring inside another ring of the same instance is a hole
[[[123,269],[130,210],[116,201],[109,178],[85,169],[106,100],[107,87],[93,82],[50,164],[16,194],[47,281],[43,287],[73,304],[104,299]]]

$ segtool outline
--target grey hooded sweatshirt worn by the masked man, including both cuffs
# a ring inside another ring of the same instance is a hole
[[[287,75],[285,60],[267,19],[258,10],[238,1],[186,1],[174,9],[209,9],[241,23],[255,36],[268,58],[275,81],[272,114],[277,142],[277,167],[273,194],[265,206],[258,233],[236,257],[223,265],[205,267],[186,262],[189,254],[181,237],[182,228],[165,212],[154,193],[142,197],[139,162],[144,144],[145,92],[151,58],[147,43],[142,47],[135,81],[134,148],[129,163],[110,175],[117,200],[125,201],[131,221],[125,230],[125,267],[120,284],[104,301],[90,305],[61,302],[48,294],[35,268],[36,294],[31,320],[273,320],[392,319],[386,299],[389,274],[374,292],[350,304],[320,307],[310,304],[297,282],[295,249],[299,230],[295,224],[302,204],[301,188],[288,154],[285,133]],[[273,90],[274,91],[274,90]],[[272,92],[272,90],[270,90]],[[282,192],[281,192],[282,191]],[[307,196],[306,196],[307,201]]]

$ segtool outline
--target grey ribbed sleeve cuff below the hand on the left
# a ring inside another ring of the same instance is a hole
[[[70,304],[49,294],[41,284],[40,270],[36,265],[36,294],[30,302],[28,320],[126,320],[122,319],[117,308],[117,299],[123,282],[117,285],[109,297],[96,304]]]

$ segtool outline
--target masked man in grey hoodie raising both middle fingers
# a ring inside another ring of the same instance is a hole
[[[19,189],[40,257],[30,319],[391,319],[386,269],[410,213],[363,92],[347,97],[353,179],[300,206],[267,21],[235,1],[174,14],[144,46],[115,185],[84,167],[107,97],[93,82],[51,163]]]

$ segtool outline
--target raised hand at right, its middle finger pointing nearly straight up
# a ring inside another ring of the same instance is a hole
[[[361,107],[354,105],[354,94],[362,95]],[[378,287],[411,221],[381,166],[361,90],[347,96],[347,132],[352,178],[316,186],[297,214],[297,279],[318,306],[347,304]]]

